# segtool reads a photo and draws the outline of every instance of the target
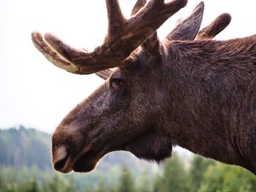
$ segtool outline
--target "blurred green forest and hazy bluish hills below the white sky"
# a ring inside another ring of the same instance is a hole
[[[50,134],[0,129],[0,192],[255,192],[249,171],[199,155],[174,153],[162,164],[110,153],[89,174],[61,174],[50,164]]]

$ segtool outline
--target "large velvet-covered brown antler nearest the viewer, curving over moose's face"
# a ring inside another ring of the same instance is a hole
[[[126,58],[162,23],[187,4],[187,0],[151,0],[140,11],[125,19],[118,0],[106,0],[108,34],[93,52],[78,50],[52,34],[31,34],[35,47],[61,69],[75,74],[91,74],[126,64]]]

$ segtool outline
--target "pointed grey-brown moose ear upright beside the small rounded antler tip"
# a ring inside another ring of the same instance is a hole
[[[197,36],[200,25],[203,20],[203,1],[197,5],[189,18],[181,21],[181,23],[167,35],[166,39],[172,40],[193,40]]]

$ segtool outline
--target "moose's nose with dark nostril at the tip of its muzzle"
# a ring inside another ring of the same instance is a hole
[[[61,146],[53,150],[53,167],[59,172],[68,173],[72,171],[69,164],[70,151]]]

